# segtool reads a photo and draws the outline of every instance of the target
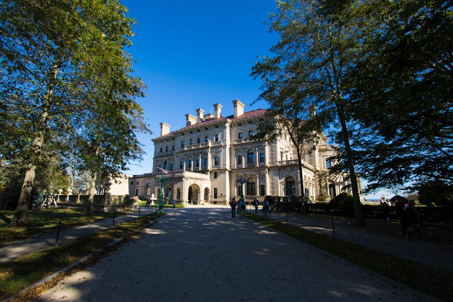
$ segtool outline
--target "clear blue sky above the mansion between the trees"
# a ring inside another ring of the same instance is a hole
[[[197,108],[210,113],[217,103],[229,116],[233,99],[240,99],[245,111],[267,108],[264,101],[250,106],[260,92],[250,72],[278,40],[265,24],[274,0],[120,1],[137,22],[128,52],[137,60],[135,76],[147,85],[147,96],[138,103],[153,132],[139,135],[147,154],[126,173],[152,172],[151,139],[160,135],[162,122],[177,130],[186,125],[187,113],[196,116]]]

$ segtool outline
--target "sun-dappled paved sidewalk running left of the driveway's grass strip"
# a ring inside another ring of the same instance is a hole
[[[140,216],[151,213],[151,208],[140,209]],[[128,213],[123,216],[117,216],[115,218],[115,225],[118,223],[124,223],[126,221],[133,220],[138,217],[138,211],[135,213]],[[92,233],[105,230],[113,226],[113,218],[99,220],[96,223],[90,223],[87,225],[79,225],[74,228],[67,228],[60,230],[60,235],[57,240],[57,232],[45,233],[35,237],[28,238],[26,240],[18,240],[15,242],[7,243],[6,245],[0,246],[0,264],[9,262],[13,259],[17,259],[26,255],[40,252],[50,247],[55,247],[56,243],[62,245],[63,243],[69,242],[79,237],[90,235]]]

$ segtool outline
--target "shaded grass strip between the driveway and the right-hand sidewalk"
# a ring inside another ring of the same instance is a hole
[[[453,273],[371,250],[352,242],[334,239],[278,220],[251,213],[246,213],[245,216],[429,296],[439,298],[442,301],[453,301]]]

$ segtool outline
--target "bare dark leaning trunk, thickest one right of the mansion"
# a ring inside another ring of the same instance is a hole
[[[352,197],[354,198],[354,222],[355,225],[364,226],[365,220],[362,213],[362,205],[360,204],[359,185],[357,184],[354,162],[351,155],[351,145],[349,144],[349,134],[347,133],[345,111],[343,111],[341,104],[338,104],[338,102],[335,105],[337,106],[338,118],[340,118],[341,130],[345,143],[346,160],[349,168],[349,175],[351,177]]]

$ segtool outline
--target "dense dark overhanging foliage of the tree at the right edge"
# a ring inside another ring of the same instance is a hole
[[[349,74],[369,189],[453,183],[453,1],[381,1]],[[367,131],[365,131],[367,130]]]

